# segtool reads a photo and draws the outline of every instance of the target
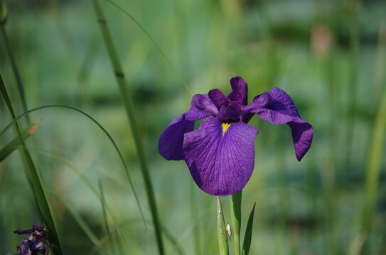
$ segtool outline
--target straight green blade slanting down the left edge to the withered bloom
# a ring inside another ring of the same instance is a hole
[[[0,91],[3,95],[4,101],[6,102],[6,105],[9,109],[9,112],[11,113],[12,118],[15,120],[16,115],[14,113],[14,108],[12,107],[11,101],[9,99],[8,93],[6,91],[6,87],[4,85],[3,78],[0,74]],[[38,202],[38,207],[41,212],[41,216],[43,217],[45,229],[47,229],[48,237],[50,237],[50,247],[53,250],[55,255],[61,255],[62,249],[60,247],[60,241],[58,237],[58,232],[56,231],[55,224],[53,222],[53,217],[50,212],[50,208],[48,206],[47,199],[45,198],[45,193],[43,191],[42,183],[39,179],[38,172],[36,171],[35,165],[33,164],[31,155],[28,152],[28,149],[26,148],[26,144],[23,141],[23,137],[21,135],[21,130],[18,127],[18,124],[15,124],[15,129],[18,134],[18,137],[20,138],[21,142],[21,152],[23,154],[24,159],[26,160],[26,170],[28,171],[28,177],[31,180],[33,190],[34,190],[34,196],[36,198],[36,201]]]

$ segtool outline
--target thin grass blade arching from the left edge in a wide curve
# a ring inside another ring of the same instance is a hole
[[[14,118],[14,120],[11,121],[11,123],[9,123],[8,125],[6,125],[6,128],[4,128],[4,130],[2,130],[0,132],[0,137],[2,137],[4,135],[4,133],[9,130],[9,128],[11,128],[12,125],[14,125],[20,118],[23,118],[24,115],[26,114],[29,114],[29,113],[32,113],[34,111],[39,111],[39,110],[42,110],[42,109],[45,109],[45,108],[67,108],[67,109],[70,109],[70,110],[73,110],[73,111],[77,111],[78,113],[82,113],[82,115],[85,115],[87,118],[89,118],[90,120],[92,120],[93,123],[95,123],[103,132],[105,135],[107,135],[107,137],[109,138],[110,142],[112,143],[112,145],[114,146],[114,149],[115,151],[117,152],[118,156],[119,156],[119,159],[121,160],[122,162],[122,165],[124,167],[124,171],[126,173],[126,176],[127,176],[127,179],[129,181],[129,184],[132,188],[132,191],[133,191],[133,194],[134,194],[134,197],[136,199],[136,203],[139,207],[139,212],[141,213],[141,218],[142,220],[144,220],[144,214],[142,212],[142,208],[141,208],[141,204],[139,203],[139,200],[138,200],[138,196],[136,196],[136,192],[134,190],[134,186],[132,184],[132,179],[130,178],[130,174],[129,174],[129,169],[127,168],[127,165],[126,163],[124,162],[124,159],[123,159],[123,156],[122,156],[122,153],[121,151],[119,150],[117,144],[114,142],[114,140],[112,139],[112,136],[109,135],[109,132],[107,132],[107,130],[105,130],[102,125],[100,125],[100,123],[97,122],[97,120],[95,120],[94,118],[92,118],[90,115],[88,115],[87,113],[85,113],[84,111],[81,111],[75,107],[71,107],[71,106],[60,106],[60,105],[50,105],[50,106],[40,106],[38,108],[33,108],[31,109],[30,111],[26,111],[25,113],[22,113],[21,115],[18,115],[18,117]],[[145,220],[144,220],[144,224],[146,225],[145,223]]]

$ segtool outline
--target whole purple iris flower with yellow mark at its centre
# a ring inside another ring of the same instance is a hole
[[[241,191],[252,175],[254,138],[259,131],[247,123],[254,113],[269,123],[289,125],[299,161],[313,137],[312,126],[300,118],[294,102],[282,89],[271,89],[247,104],[244,79],[233,77],[230,85],[228,96],[219,89],[194,95],[189,111],[178,115],[159,139],[162,157],[184,159],[198,187],[215,196]],[[200,128],[194,130],[195,120],[203,118]]]

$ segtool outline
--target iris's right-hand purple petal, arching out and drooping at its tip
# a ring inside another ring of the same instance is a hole
[[[269,98],[269,95],[272,98]],[[267,103],[269,100],[271,102]],[[256,108],[253,109],[253,106]],[[262,106],[264,108],[259,108]],[[300,161],[304,157],[311,146],[313,128],[300,118],[294,101],[286,92],[278,88],[271,89],[254,98],[253,103],[242,109],[242,115],[247,111],[257,113],[260,118],[275,125],[288,124],[292,131],[296,159]]]

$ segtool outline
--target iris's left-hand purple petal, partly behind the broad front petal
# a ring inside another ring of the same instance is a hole
[[[183,134],[194,130],[194,121],[206,118],[213,113],[193,109],[178,115],[159,138],[159,154],[167,160],[181,160]]]

